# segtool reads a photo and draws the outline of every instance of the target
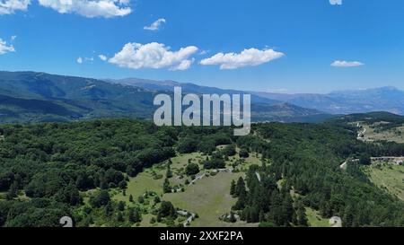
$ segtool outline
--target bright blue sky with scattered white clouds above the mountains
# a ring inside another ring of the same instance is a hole
[[[402,0],[0,0],[0,70],[404,89]]]

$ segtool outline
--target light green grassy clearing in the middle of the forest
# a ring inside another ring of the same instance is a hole
[[[222,148],[224,146],[221,146]],[[221,148],[219,147],[219,148]],[[238,151],[238,149],[237,149]],[[173,176],[169,179],[171,186],[184,187],[184,192],[162,194],[162,183],[165,179],[167,171],[166,164],[156,164],[152,168],[145,169],[135,178],[130,178],[127,183],[126,196],[122,191],[112,190],[112,199],[116,201],[124,201],[130,205],[129,197],[132,195],[137,197],[145,194],[146,191],[154,191],[162,197],[162,200],[171,201],[172,204],[180,209],[185,209],[191,213],[197,213],[199,218],[191,223],[191,226],[257,226],[258,224],[247,223],[224,223],[219,220],[222,214],[229,213],[236,199],[230,196],[230,184],[232,180],[237,180],[244,176],[251,164],[261,164],[260,155],[250,153],[250,157],[244,159],[242,164],[238,166],[240,172],[219,172],[215,176],[199,179],[194,185],[185,185],[186,179],[191,180],[184,175],[184,169],[189,161],[199,163],[205,160],[206,156],[201,153],[180,154],[171,158],[171,171]],[[233,162],[240,160],[238,154],[230,157],[226,162],[226,168],[231,168]],[[201,172],[210,172],[203,170],[203,165],[199,164]],[[162,178],[156,179],[156,176]],[[152,214],[145,214],[140,226],[161,226],[162,223],[150,223]]]

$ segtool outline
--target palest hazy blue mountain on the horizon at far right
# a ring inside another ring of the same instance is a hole
[[[394,87],[339,91],[329,94],[252,93],[270,100],[292,103],[303,108],[319,109],[331,114],[388,111],[404,115],[404,92]]]

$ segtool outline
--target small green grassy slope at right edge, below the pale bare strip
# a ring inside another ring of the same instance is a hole
[[[379,188],[404,200],[404,166],[390,162],[374,162],[364,167],[369,179]]]

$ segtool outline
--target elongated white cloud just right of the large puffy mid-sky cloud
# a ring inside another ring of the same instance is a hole
[[[244,49],[242,53],[218,53],[213,57],[203,59],[200,64],[203,66],[218,65],[220,69],[237,69],[244,66],[259,66],[274,59],[283,57],[285,54],[274,49],[257,48]]]

